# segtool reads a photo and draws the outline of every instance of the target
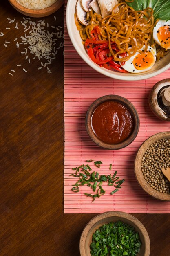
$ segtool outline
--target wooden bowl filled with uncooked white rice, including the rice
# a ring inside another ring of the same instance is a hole
[[[60,9],[64,4],[64,0],[56,0],[55,2],[49,0],[49,4],[47,5],[48,7],[44,8],[45,5],[41,6],[41,3],[38,5],[38,0],[9,0],[9,2],[20,13],[35,18],[49,16],[52,13],[55,13],[55,11]],[[34,3],[35,9],[31,9],[31,3]],[[28,8],[25,6],[28,6]]]

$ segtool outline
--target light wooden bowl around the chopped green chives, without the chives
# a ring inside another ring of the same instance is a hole
[[[93,233],[104,224],[109,222],[116,222],[121,220],[135,227],[135,231],[139,233],[139,238],[141,240],[141,249],[137,256],[149,256],[150,255],[150,239],[148,232],[142,223],[134,216],[124,213],[121,211],[108,211],[106,213],[99,214],[95,216],[84,228],[81,238],[80,238],[80,255],[81,256],[91,256],[90,254],[90,244],[92,242]]]

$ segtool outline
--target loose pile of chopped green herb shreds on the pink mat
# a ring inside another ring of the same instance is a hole
[[[86,162],[93,162],[94,165],[97,168],[101,167],[102,162],[101,161],[93,161],[93,160],[86,160]],[[112,164],[110,164],[109,170],[111,170]],[[119,189],[121,189],[121,184],[125,181],[119,180],[120,177],[116,177],[117,171],[113,175],[99,175],[98,172],[92,171],[92,168],[86,164],[82,164],[79,167],[72,168],[73,171],[75,171],[75,174],[72,173],[70,176],[78,177],[79,180],[73,184],[73,188],[71,189],[73,192],[78,193],[79,192],[79,186],[87,185],[88,187],[91,187],[92,191],[95,192],[95,194],[92,193],[84,193],[87,197],[92,198],[92,202],[94,202],[95,198],[100,198],[102,195],[106,193],[106,191],[103,189],[102,185],[103,182],[107,182],[108,186],[114,186],[116,189],[114,189],[110,194],[113,195]],[[92,173],[90,173],[92,171]]]

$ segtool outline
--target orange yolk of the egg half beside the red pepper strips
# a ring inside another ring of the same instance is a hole
[[[148,50],[144,53],[137,54],[132,63],[137,70],[146,70],[148,67],[152,67],[155,64],[155,58],[150,50]]]

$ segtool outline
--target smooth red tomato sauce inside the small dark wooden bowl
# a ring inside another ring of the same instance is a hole
[[[106,101],[94,110],[91,126],[96,137],[108,144],[126,140],[133,130],[133,117],[118,101]]]

